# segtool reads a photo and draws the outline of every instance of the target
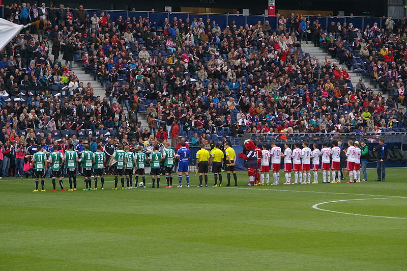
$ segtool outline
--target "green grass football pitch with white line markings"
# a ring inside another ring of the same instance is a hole
[[[112,191],[108,177],[88,192],[51,192],[47,179],[44,193],[2,179],[0,270],[407,268],[407,169],[388,169],[387,182],[369,170],[362,183],[248,188],[245,172],[237,188],[197,188],[193,175],[190,188]],[[312,208],[323,202],[353,214]]]

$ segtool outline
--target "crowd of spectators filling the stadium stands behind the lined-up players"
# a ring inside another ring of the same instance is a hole
[[[54,130],[89,141],[156,138],[176,146],[180,136],[198,145],[247,133],[398,131],[407,124],[405,18],[389,17],[386,29],[332,23],[325,30],[318,20],[291,14],[279,16],[277,29],[267,20],[232,20],[221,29],[210,18],[112,18],[82,5],[14,4],[4,14],[31,23],[0,52],[0,141],[10,139],[14,152],[40,134],[50,138],[45,144],[65,135]],[[304,42],[338,63],[305,55]],[[74,60],[104,95],[78,80]],[[347,70],[356,63],[388,98],[362,79],[350,83]]]

